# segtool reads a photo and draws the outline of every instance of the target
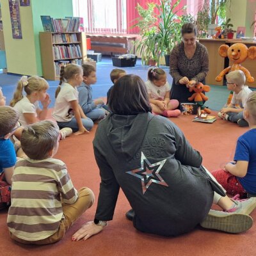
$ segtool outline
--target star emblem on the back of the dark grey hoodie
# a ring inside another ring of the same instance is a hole
[[[168,184],[163,180],[163,178],[159,174],[165,162],[166,159],[154,164],[150,164],[150,162],[145,157],[143,152],[141,152],[141,167],[132,171],[128,171],[126,173],[129,173],[132,176],[141,179],[142,193],[145,194],[145,192],[147,191],[148,187],[152,184],[152,182],[168,187]]]

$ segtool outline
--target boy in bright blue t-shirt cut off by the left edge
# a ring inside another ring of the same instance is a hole
[[[12,175],[16,163],[16,154],[10,136],[15,131],[19,115],[15,109],[0,106],[0,179],[4,173],[4,180],[12,184]]]

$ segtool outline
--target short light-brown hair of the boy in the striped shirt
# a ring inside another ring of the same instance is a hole
[[[28,125],[21,134],[21,148],[31,159],[46,159],[49,151],[56,147],[59,134],[58,125],[48,120]]]

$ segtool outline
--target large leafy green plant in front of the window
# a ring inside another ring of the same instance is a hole
[[[147,9],[140,4],[137,6],[139,13],[135,26],[140,28],[141,40],[136,43],[143,64],[152,59],[159,63],[159,58],[170,54],[175,44],[181,40],[180,29],[185,22],[191,22],[191,15],[178,16],[175,10],[180,0],[172,4],[172,0],[160,0],[159,4],[148,3]],[[158,15],[154,9],[158,10]],[[151,20],[150,20],[151,19]]]

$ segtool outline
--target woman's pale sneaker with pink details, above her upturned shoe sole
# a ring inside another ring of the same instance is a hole
[[[256,208],[256,198],[251,197],[249,199],[239,199],[239,195],[230,198],[236,206],[225,212],[236,212],[241,214],[250,214]]]

